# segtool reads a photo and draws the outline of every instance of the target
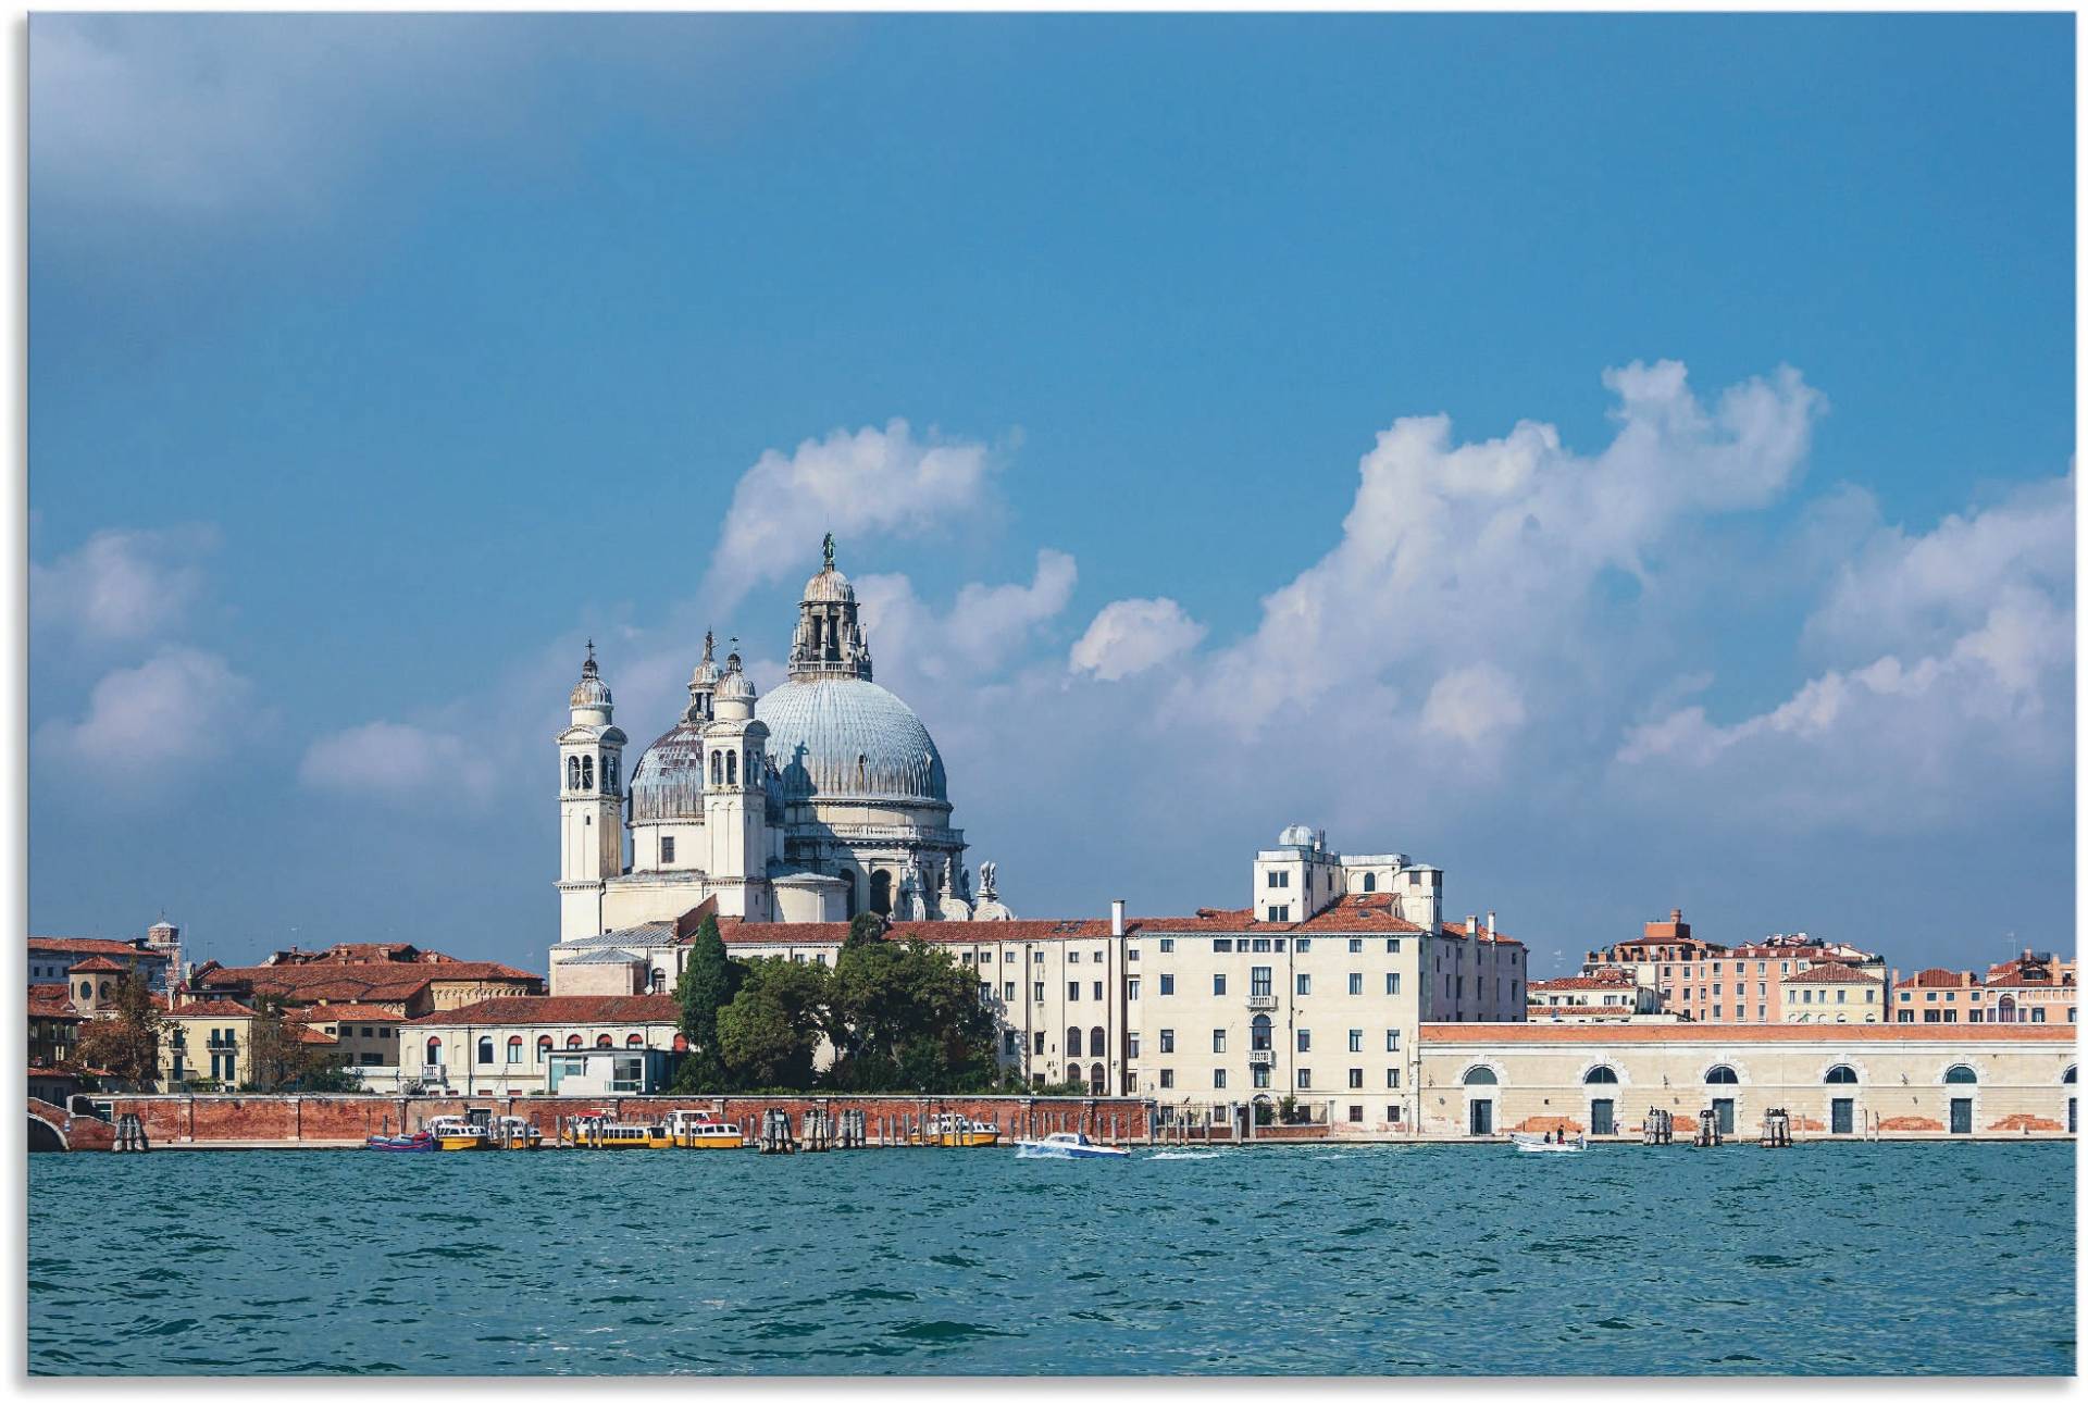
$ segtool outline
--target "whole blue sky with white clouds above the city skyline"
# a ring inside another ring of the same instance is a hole
[[[2071,948],[2071,25],[40,15],[31,927],[541,962],[831,526],[1019,912]]]

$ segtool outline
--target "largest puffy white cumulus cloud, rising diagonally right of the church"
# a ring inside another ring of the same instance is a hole
[[[1535,422],[1457,445],[1445,415],[1397,420],[1361,459],[1340,541],[1263,599],[1201,697],[1251,729],[1391,670],[1556,653],[1606,572],[1643,582],[1679,528],[1794,482],[1825,407],[1794,369],[1712,405],[1677,361],[1604,384],[1616,436],[1593,455]]]

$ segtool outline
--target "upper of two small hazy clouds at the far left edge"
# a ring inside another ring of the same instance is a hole
[[[104,528],[50,566],[29,564],[29,616],[86,643],[138,641],[182,620],[203,587],[209,526]]]

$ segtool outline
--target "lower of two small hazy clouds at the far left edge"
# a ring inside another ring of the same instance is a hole
[[[136,668],[94,685],[88,714],[35,733],[38,749],[84,774],[150,783],[184,766],[228,756],[253,718],[251,685],[223,655],[169,645]]]

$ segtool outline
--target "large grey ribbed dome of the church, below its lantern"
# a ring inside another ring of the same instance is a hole
[[[762,695],[754,716],[768,724],[787,800],[950,802],[935,739],[881,685],[793,681]]]

